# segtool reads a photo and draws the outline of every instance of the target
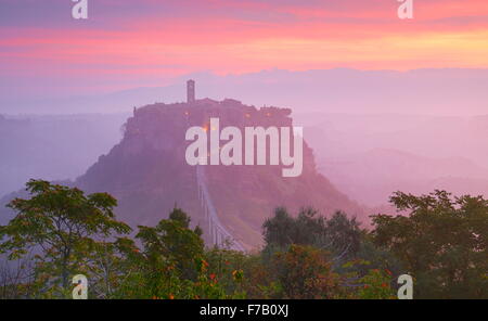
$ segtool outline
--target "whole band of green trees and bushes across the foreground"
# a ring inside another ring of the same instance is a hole
[[[29,200],[9,206],[0,227],[0,297],[69,298],[70,278],[89,279],[90,298],[395,298],[396,278],[414,277],[416,298],[487,298],[488,201],[436,191],[391,202],[408,216],[373,216],[361,230],[342,211],[278,208],[256,253],[205,248],[200,227],[175,207],[136,237],[115,219],[106,193],[31,180]]]

